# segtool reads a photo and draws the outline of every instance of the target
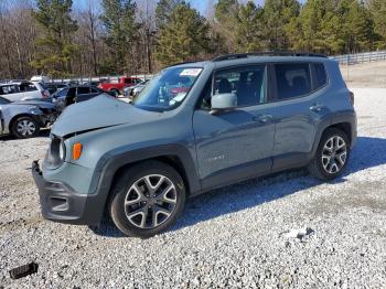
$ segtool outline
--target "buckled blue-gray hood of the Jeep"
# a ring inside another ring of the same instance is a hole
[[[57,137],[65,137],[106,127],[158,120],[161,116],[162,113],[139,109],[103,94],[67,107],[55,121],[51,132]]]

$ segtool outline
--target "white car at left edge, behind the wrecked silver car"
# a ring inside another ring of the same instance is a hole
[[[11,81],[0,83],[0,96],[11,100],[28,100],[50,98],[50,92],[41,83],[29,81]]]

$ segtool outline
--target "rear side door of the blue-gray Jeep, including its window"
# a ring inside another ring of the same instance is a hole
[[[328,115],[321,97],[326,85],[321,65],[298,62],[270,66],[275,89],[272,101],[277,105],[274,170],[303,165],[312,157],[317,128]],[[317,67],[321,73],[319,81]]]

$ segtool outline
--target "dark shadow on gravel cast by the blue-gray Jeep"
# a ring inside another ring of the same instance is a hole
[[[345,173],[330,183],[346,182],[347,175],[382,164],[386,164],[386,139],[358,137]],[[299,169],[213,190],[189,200],[182,216],[169,232],[255,207],[321,183],[310,176],[305,169]],[[101,236],[124,236],[107,218],[99,227],[92,229]]]

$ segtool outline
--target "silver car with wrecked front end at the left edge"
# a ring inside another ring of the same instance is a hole
[[[52,125],[58,113],[46,101],[10,101],[0,97],[0,136],[11,133],[17,138],[35,137],[41,128]]]

